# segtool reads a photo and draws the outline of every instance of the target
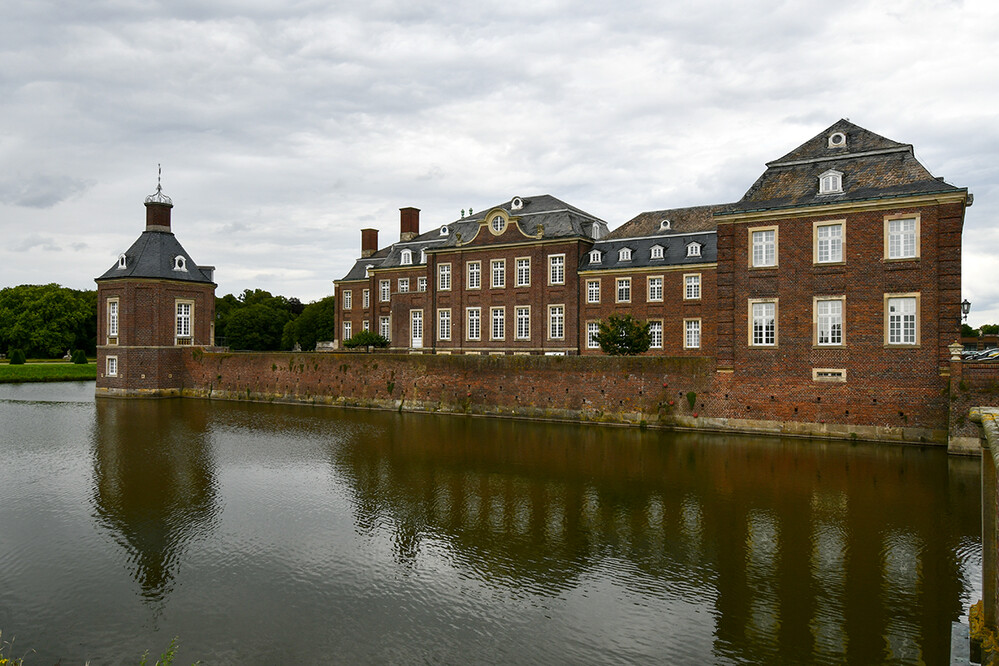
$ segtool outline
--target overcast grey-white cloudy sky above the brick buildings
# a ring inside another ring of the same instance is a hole
[[[69,0],[0,10],[0,287],[93,278],[143,198],[218,294],[332,293],[512,196],[615,228],[738,200],[840,118],[968,187],[969,323],[999,322],[999,2]]]

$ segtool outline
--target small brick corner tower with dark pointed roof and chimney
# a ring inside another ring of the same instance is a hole
[[[184,354],[214,344],[214,266],[198,266],[170,227],[173,201],[146,197],[142,235],[97,282],[97,395],[184,388]]]

